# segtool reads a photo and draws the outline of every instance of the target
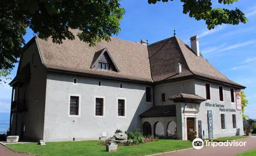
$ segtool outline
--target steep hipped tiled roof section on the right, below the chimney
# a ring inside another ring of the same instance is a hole
[[[170,37],[155,44],[148,45],[149,60],[153,81],[167,81],[188,76],[199,76],[235,85],[225,75],[214,68],[201,56],[196,56],[190,47],[178,37]],[[182,64],[182,72],[176,73],[177,63]]]

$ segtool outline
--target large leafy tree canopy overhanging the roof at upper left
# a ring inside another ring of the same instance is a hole
[[[61,44],[74,39],[70,29],[81,30],[80,40],[94,45],[110,40],[120,31],[125,13],[120,0],[1,0],[0,1],[0,72],[13,69],[20,57],[22,38],[31,28],[42,39]],[[0,80],[6,75],[0,75]]]

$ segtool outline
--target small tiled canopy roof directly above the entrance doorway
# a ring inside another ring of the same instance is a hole
[[[188,102],[188,103],[201,103],[206,101],[207,99],[196,95],[196,94],[177,94],[168,98],[168,100],[172,100],[173,102]]]

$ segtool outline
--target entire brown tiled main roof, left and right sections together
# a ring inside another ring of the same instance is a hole
[[[201,56],[196,56],[178,37],[170,37],[148,46],[111,37],[110,42],[102,41],[89,47],[76,37],[78,30],[72,32],[75,39],[63,40],[63,44],[54,44],[50,39],[46,41],[35,37],[42,61],[47,68],[145,82],[199,76],[244,87],[230,81]],[[104,49],[108,50],[119,72],[91,68]],[[178,63],[182,64],[180,74],[176,73]]]

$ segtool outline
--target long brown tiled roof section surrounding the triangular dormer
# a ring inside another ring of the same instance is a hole
[[[42,61],[47,68],[152,82],[147,45],[112,37],[109,43],[102,41],[89,47],[76,37],[78,31],[72,31],[75,39],[63,40],[63,44],[54,44],[50,39],[45,41],[36,37]],[[97,59],[94,54],[100,55],[99,51],[104,48],[108,49],[119,72],[90,68],[92,61]]]

